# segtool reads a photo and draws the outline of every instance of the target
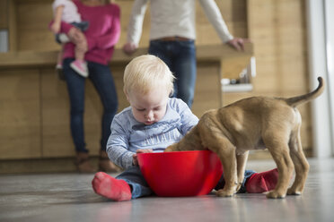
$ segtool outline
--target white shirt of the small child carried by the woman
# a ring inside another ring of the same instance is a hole
[[[70,0],[55,0],[52,4],[53,13],[56,13],[57,7],[64,5],[63,14],[61,17],[62,21],[67,23],[81,22],[81,16],[78,13],[76,5]]]

